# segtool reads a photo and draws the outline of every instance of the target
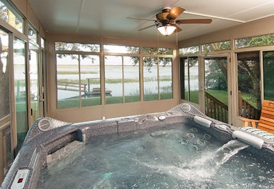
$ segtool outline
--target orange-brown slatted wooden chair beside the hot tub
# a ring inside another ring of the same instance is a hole
[[[260,120],[240,118],[243,121],[242,126],[247,127],[249,123],[253,128],[265,130],[274,134],[274,101],[264,100],[262,103],[262,113]],[[258,126],[256,126],[258,123]]]

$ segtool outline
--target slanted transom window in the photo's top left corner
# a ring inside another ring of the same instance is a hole
[[[23,16],[18,14],[18,12],[8,3],[7,0],[0,1],[0,10],[1,14],[0,17],[6,23],[14,27],[16,30],[24,33],[24,19]]]

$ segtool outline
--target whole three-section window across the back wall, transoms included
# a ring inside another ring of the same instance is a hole
[[[140,102],[140,61],[144,100],[173,98],[172,48],[55,42],[58,108]],[[149,54],[149,55],[147,55]],[[104,85],[101,86],[101,82]]]

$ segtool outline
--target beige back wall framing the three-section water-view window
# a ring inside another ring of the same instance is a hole
[[[79,122],[102,119],[102,117],[114,118],[129,115],[140,115],[145,113],[155,113],[168,111],[178,104],[178,73],[179,68],[176,56],[173,59],[173,99],[154,100],[149,102],[132,102],[125,104],[102,104],[100,106],[86,106],[82,108],[56,108],[56,68],[54,42],[84,42],[91,44],[122,44],[128,46],[149,46],[155,45],[176,48],[176,44],[161,44],[155,41],[126,40],[119,38],[99,38],[91,35],[74,35],[65,33],[47,33],[47,88],[48,88],[48,107],[47,116],[62,121]],[[175,52],[176,50],[174,50]],[[103,67],[101,67],[103,69]]]

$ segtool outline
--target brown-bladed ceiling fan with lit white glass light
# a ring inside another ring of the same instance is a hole
[[[182,31],[180,27],[177,25],[180,24],[209,24],[212,22],[212,19],[183,19],[183,20],[176,20],[176,18],[184,12],[184,8],[180,7],[173,7],[173,8],[163,8],[161,13],[156,14],[156,19],[148,19],[148,18],[134,18],[134,17],[127,17],[131,19],[137,20],[150,20],[154,21],[154,25],[150,25],[148,27],[144,27],[142,29],[138,29],[138,31],[142,31],[148,29],[150,27],[156,26],[158,31],[162,33],[162,35],[171,35],[173,32]]]

